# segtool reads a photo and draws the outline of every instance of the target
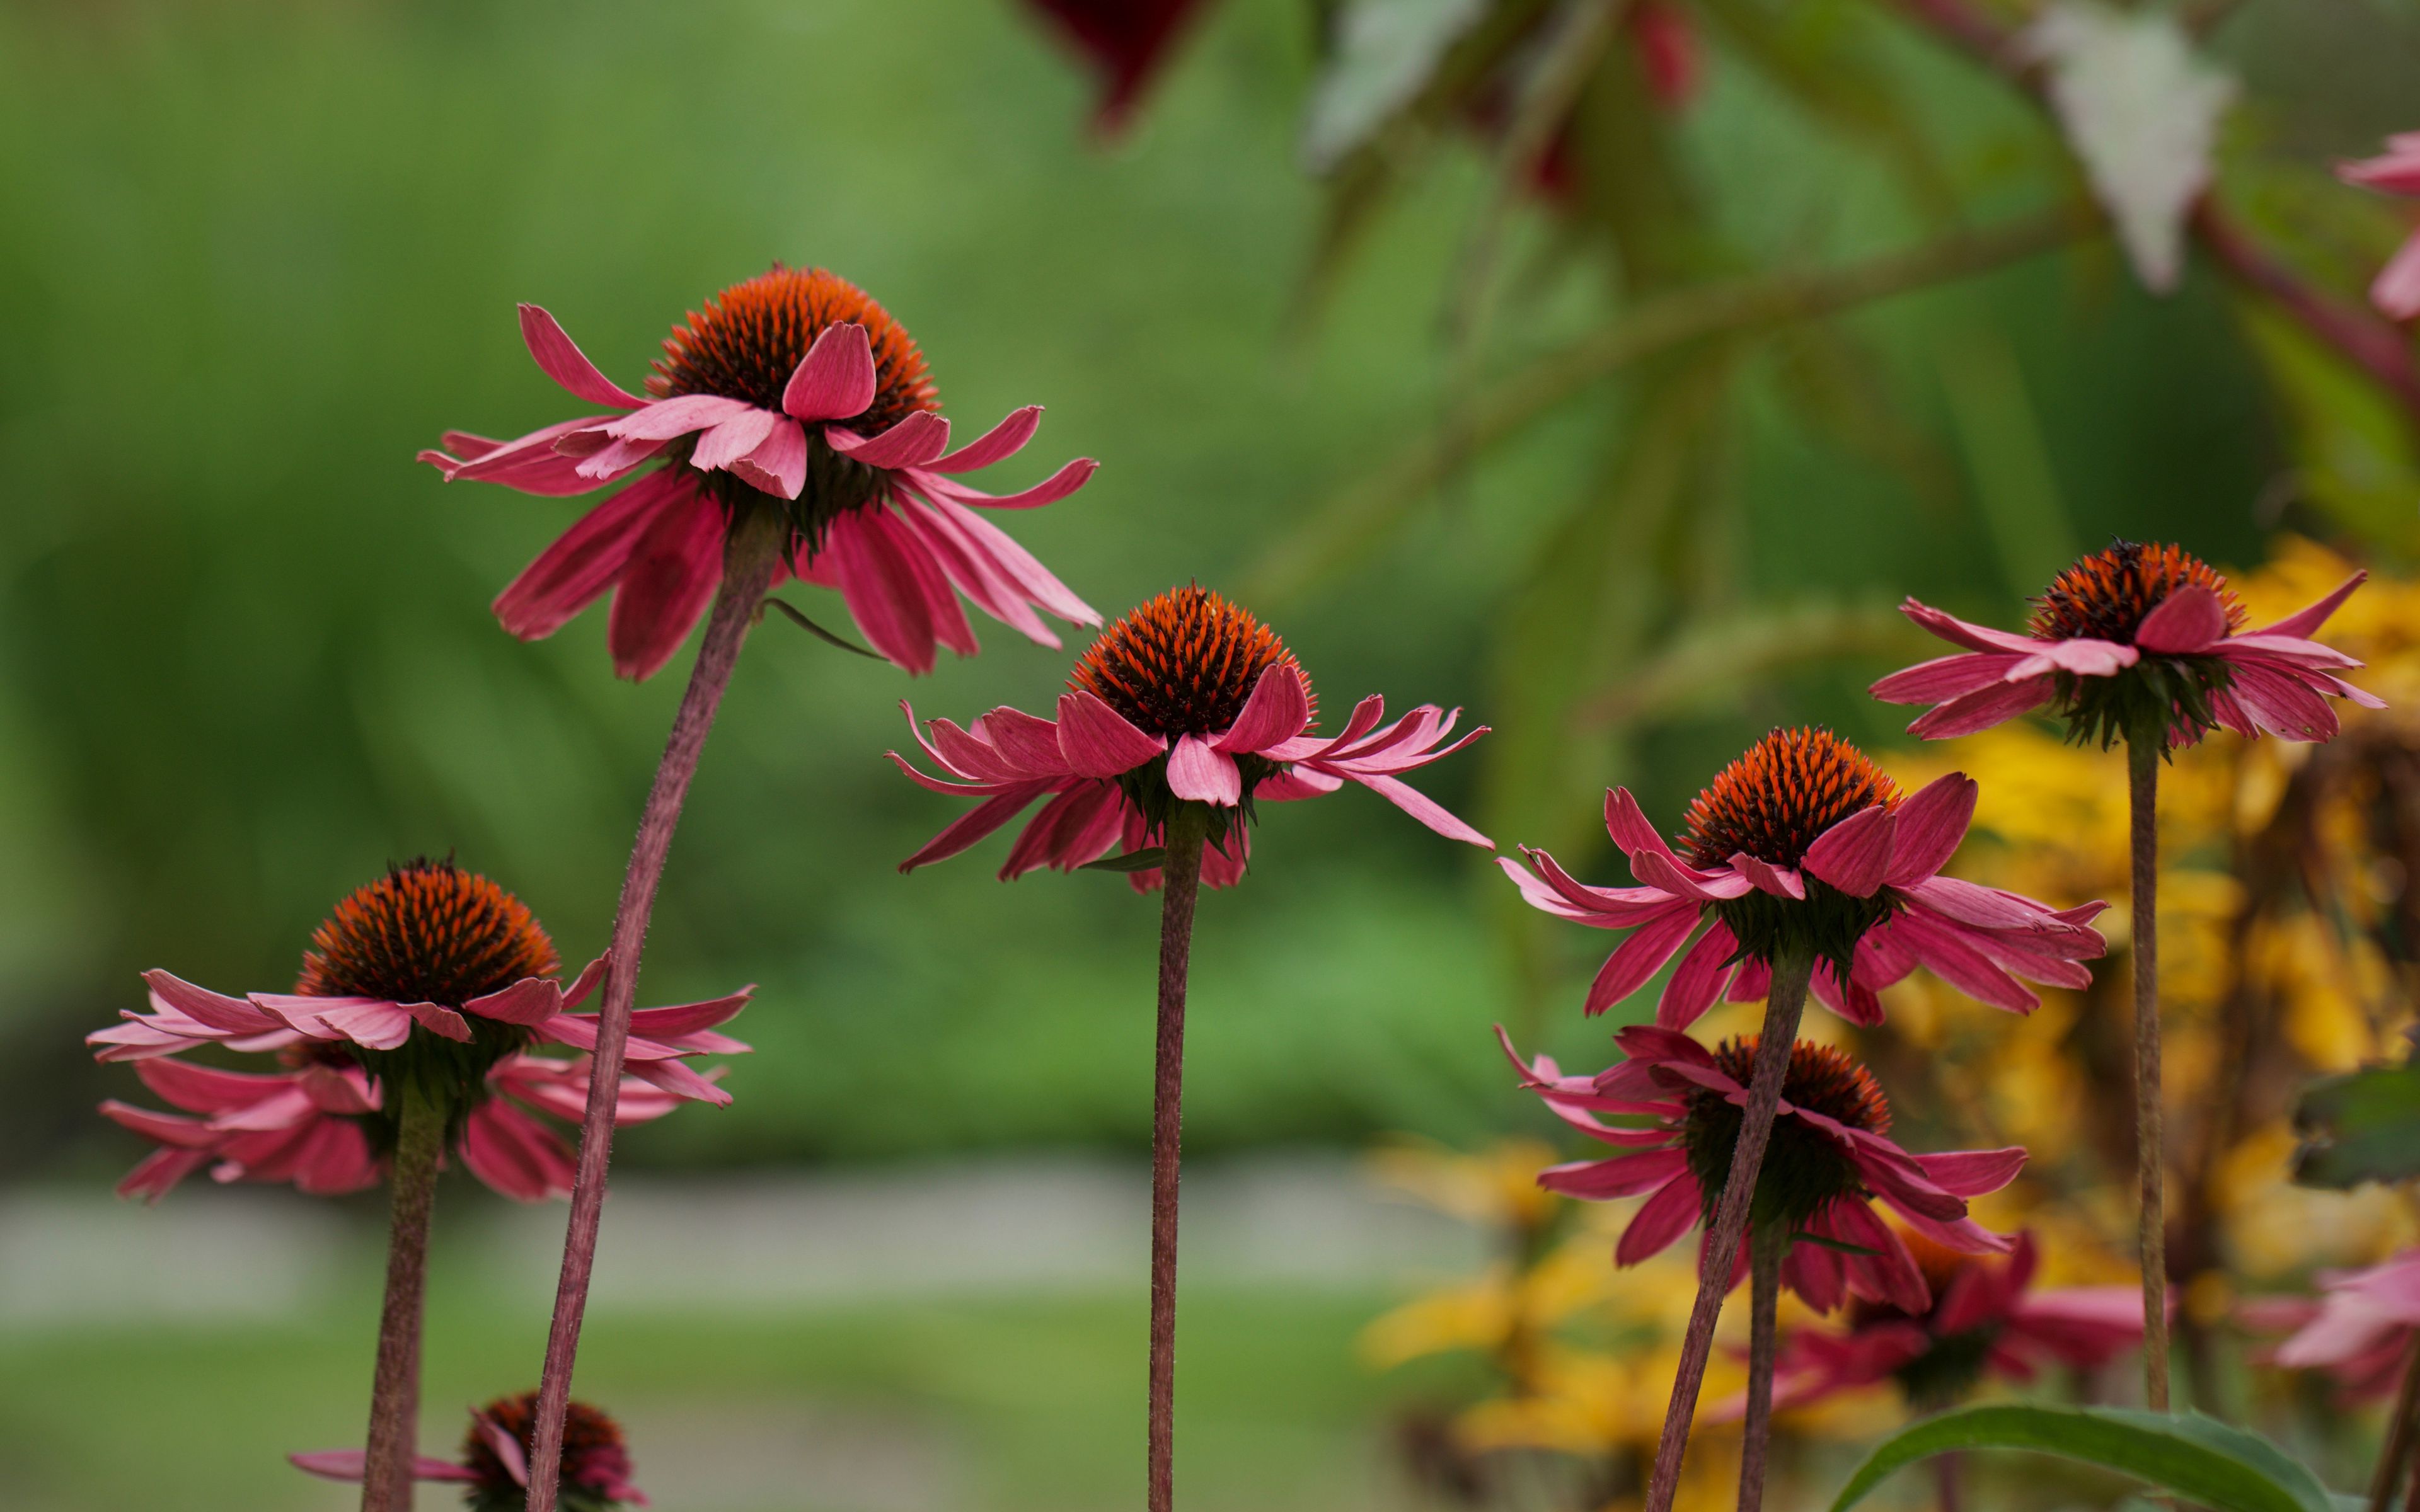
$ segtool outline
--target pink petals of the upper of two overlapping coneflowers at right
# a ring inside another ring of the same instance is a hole
[[[2040,997],[2028,982],[2084,987],[2081,965],[2108,941],[2091,927],[2105,905],[2052,910],[2045,902],[1941,876],[1975,818],[1975,779],[1953,772],[1897,808],[1863,808],[1808,847],[1800,866],[1771,866],[1745,852],[1723,866],[1684,864],[1648,823],[1629,789],[1604,801],[1607,832],[1631,861],[1636,888],[1590,888],[1542,849],[1522,861],[1498,856],[1532,907],[1592,929],[1629,929],[1588,989],[1588,1014],[1602,1014],[1679,958],[1655,1004],[1655,1023],[1687,1028],[1716,1002],[1759,1002],[1769,963],[1742,958],[1718,905],[1747,893],[1805,900],[1808,878],[1851,898],[1878,898],[1888,917],[1856,943],[1849,980],[1830,960],[1815,965],[1817,1002],[1851,1023],[1880,1023],[1883,987],[1919,965],[1960,992],[2011,1014]],[[1706,922],[1704,934],[1699,924]],[[1696,943],[1692,943],[1692,936]]]

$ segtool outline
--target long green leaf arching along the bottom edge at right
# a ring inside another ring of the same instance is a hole
[[[1849,1476],[1832,1512],[1866,1500],[1892,1471],[1958,1449],[2033,1449],[2134,1476],[2212,1512],[2335,1512],[2309,1466],[2217,1418],[2035,1403],[1960,1408],[1900,1430]]]

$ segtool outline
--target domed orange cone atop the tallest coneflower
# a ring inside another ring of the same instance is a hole
[[[663,356],[646,380],[656,399],[721,394],[757,409],[782,411],[782,389],[825,327],[862,324],[874,344],[874,404],[847,426],[878,435],[920,409],[941,409],[924,353],[908,327],[840,273],[784,269],[733,283],[692,310],[687,324],[663,339]]]

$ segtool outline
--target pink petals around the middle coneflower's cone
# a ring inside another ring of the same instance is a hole
[[[1401,781],[1404,772],[1462,750],[1483,735],[1486,726],[1447,745],[1459,709],[1423,704],[1394,723],[1379,723],[1387,702],[1367,697],[1353,709],[1343,731],[1316,735],[1302,675],[1283,663],[1261,673],[1232,726],[1208,735],[1179,735],[1174,743],[1135,728],[1082,689],[1060,694],[1055,721],[1002,706],[968,728],[946,719],[917,728],[915,709],[908,704],[900,709],[908,711],[910,735],[946,777],[932,777],[893,750],[888,755],[898,769],[937,793],[978,798],[975,808],[900,861],[900,871],[956,856],[1033,803],[1043,808],[1009,847],[999,868],[1002,881],[1045,866],[1074,871],[1111,852],[1145,849],[1157,842],[1150,820],[1118,779],[1162,755],[1169,757],[1166,784],[1176,798],[1232,810],[1246,798],[1237,757],[1258,757],[1278,764],[1278,772],[1261,779],[1249,793],[1254,801],[1319,798],[1353,781],[1447,839],[1493,849],[1486,835]],[[1203,854],[1208,885],[1225,888],[1241,881],[1246,835],[1249,830],[1234,825],[1225,847],[1212,844]],[[1159,885],[1157,871],[1135,871],[1130,878],[1137,890]]]

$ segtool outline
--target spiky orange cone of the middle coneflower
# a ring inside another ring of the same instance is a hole
[[[1278,631],[1249,610],[1205,588],[1169,588],[1101,631],[1067,687],[1096,694],[1137,731],[1174,740],[1232,726],[1273,665],[1302,673]],[[1304,675],[1304,692],[1309,685]]]

